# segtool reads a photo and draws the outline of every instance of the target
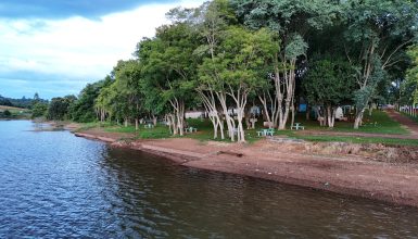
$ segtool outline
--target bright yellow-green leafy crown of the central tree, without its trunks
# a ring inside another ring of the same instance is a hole
[[[232,87],[251,91],[259,86],[258,70],[277,49],[267,29],[251,32],[231,27],[225,32],[219,53],[203,60],[200,78],[216,90]]]

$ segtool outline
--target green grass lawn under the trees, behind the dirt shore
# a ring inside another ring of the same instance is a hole
[[[201,141],[215,140],[213,139],[213,126],[208,120],[187,120],[188,125],[198,128],[197,133],[188,133],[183,137],[198,139]],[[401,134],[407,135],[408,131],[401,127],[397,122],[392,121],[385,112],[373,111],[372,115],[365,115],[365,124],[359,129],[353,129],[352,122],[335,122],[333,129],[328,127],[320,127],[316,121],[306,121],[304,114],[296,116],[295,122],[305,126],[305,129],[318,130],[318,131],[345,131],[345,133],[372,133],[372,134]],[[245,139],[248,142],[255,142],[263,137],[257,136],[263,127],[263,122],[258,121],[255,129],[245,130]],[[138,139],[159,139],[159,138],[173,138],[168,127],[165,125],[157,125],[154,128],[144,128],[140,125],[139,130],[135,129],[135,126],[130,125],[124,127],[122,125],[115,125],[110,123],[89,123],[85,124],[85,128],[89,127],[104,127],[105,131],[111,133],[130,133],[135,134]],[[303,139],[307,141],[341,141],[353,143],[384,143],[384,144],[403,144],[403,146],[418,146],[418,140],[413,139],[393,139],[393,138],[379,138],[379,137],[355,137],[355,136],[303,136],[294,134],[295,130],[276,130],[275,136],[284,136],[289,138]],[[225,130],[226,134],[226,130]],[[220,140],[220,134],[218,134],[216,141],[229,142],[229,139]],[[178,136],[177,136],[178,137]],[[225,135],[227,137],[227,135]]]

